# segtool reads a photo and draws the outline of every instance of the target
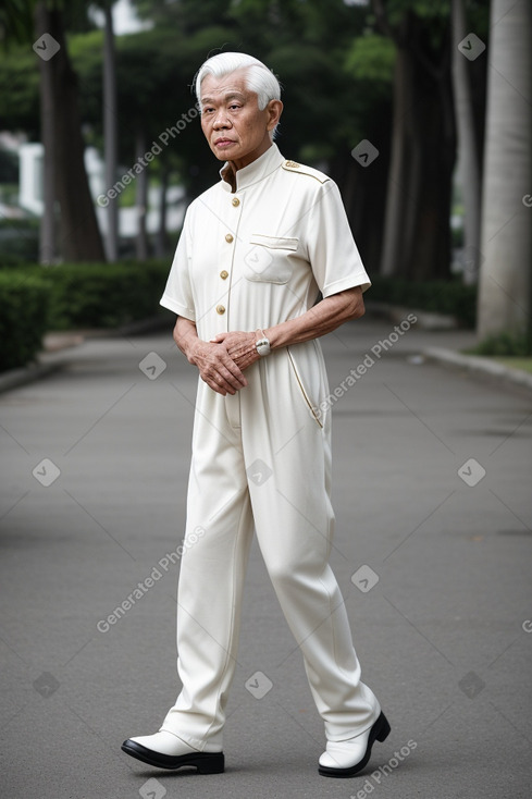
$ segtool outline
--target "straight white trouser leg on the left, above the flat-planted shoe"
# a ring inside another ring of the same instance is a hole
[[[238,417],[238,395],[222,397],[200,385],[187,497],[190,545],[177,592],[183,689],[161,727],[198,749],[207,740],[222,742],[252,537]]]

